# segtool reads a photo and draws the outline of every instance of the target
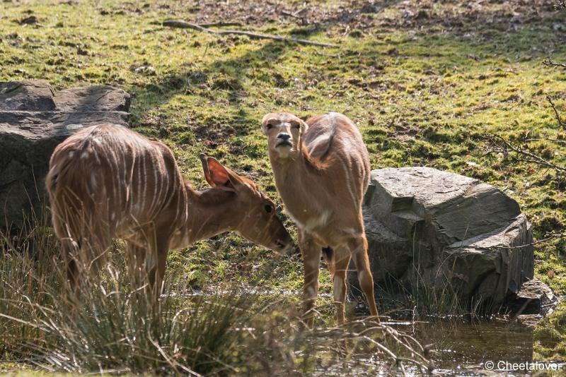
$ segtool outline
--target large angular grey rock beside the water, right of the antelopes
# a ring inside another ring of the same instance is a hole
[[[388,290],[454,292],[498,309],[533,277],[529,222],[516,201],[477,179],[374,170],[364,220],[374,280]]]

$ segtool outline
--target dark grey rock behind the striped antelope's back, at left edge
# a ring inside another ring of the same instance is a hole
[[[57,144],[94,124],[127,125],[129,103],[127,92],[104,85],[54,92],[43,81],[0,83],[0,227],[42,212]]]

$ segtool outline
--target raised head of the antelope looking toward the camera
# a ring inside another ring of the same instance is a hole
[[[270,113],[261,121],[262,131],[267,136],[270,157],[296,158],[301,152],[301,143],[308,126],[301,119],[287,112]]]

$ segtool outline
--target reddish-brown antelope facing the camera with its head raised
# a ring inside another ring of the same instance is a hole
[[[262,131],[268,138],[277,191],[299,228],[306,324],[313,325],[321,251],[333,275],[337,323],[344,322],[346,272],[352,256],[369,311],[379,321],[362,217],[369,155],[358,128],[342,114],[331,112],[305,122],[280,112],[263,117]]]

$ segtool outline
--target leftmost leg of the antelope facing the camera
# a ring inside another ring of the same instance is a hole
[[[304,309],[303,321],[308,328],[313,328],[314,306],[318,296],[318,274],[320,273],[320,246],[310,234],[299,231],[299,247],[303,254],[304,265]]]

